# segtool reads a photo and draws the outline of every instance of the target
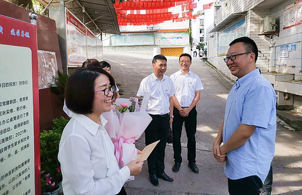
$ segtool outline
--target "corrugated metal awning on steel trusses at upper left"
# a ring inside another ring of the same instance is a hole
[[[44,6],[60,3],[60,0],[38,0]],[[94,34],[120,34],[112,0],[70,0],[64,1],[72,12]]]

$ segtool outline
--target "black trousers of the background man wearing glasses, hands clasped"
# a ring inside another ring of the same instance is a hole
[[[185,123],[188,143],[188,161],[189,162],[196,162],[196,127],[197,127],[197,111],[196,107],[194,107],[187,117],[182,117],[179,114],[179,111],[174,107],[173,110],[173,124],[172,124],[172,131],[173,131],[173,151],[174,151],[174,161],[175,162],[182,162],[181,157],[181,131],[183,123]]]

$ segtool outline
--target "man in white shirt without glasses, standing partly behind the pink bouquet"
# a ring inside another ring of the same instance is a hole
[[[164,160],[168,129],[173,122],[172,97],[175,90],[171,78],[164,74],[167,70],[167,58],[156,55],[152,64],[154,72],[141,80],[137,96],[143,96],[145,92],[150,93],[146,112],[152,117],[152,121],[145,129],[145,144],[160,140],[147,159],[149,180],[157,186],[158,178],[173,181],[173,178],[165,173]]]

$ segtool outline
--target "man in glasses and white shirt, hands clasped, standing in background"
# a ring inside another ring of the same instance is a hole
[[[194,173],[198,173],[198,167],[195,164],[196,158],[196,141],[195,133],[197,126],[196,104],[199,101],[200,90],[203,89],[200,78],[197,74],[190,71],[192,57],[187,53],[183,53],[179,57],[180,70],[170,76],[174,83],[175,95],[173,96],[174,103],[174,121],[173,130],[173,150],[174,150],[174,165],[173,172],[178,172],[182,157],[181,157],[181,132],[183,123],[187,133],[188,143],[188,166]]]

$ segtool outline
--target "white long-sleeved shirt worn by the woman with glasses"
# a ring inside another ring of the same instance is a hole
[[[128,166],[119,168],[107,121],[100,119],[103,125],[73,114],[64,128],[58,154],[64,195],[117,194],[130,176]]]

